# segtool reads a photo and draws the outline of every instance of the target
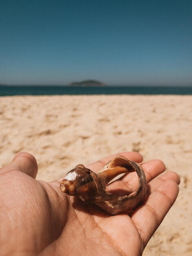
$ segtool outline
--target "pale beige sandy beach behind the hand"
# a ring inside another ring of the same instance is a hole
[[[143,255],[192,255],[192,96],[0,97],[1,166],[27,151],[37,179],[51,181],[76,164],[131,150],[181,177],[178,199]]]

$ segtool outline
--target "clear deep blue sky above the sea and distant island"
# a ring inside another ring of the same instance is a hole
[[[1,0],[0,83],[192,85],[192,0]]]

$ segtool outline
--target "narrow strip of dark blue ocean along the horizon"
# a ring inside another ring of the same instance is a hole
[[[105,86],[70,87],[46,85],[0,85],[0,96],[13,95],[92,95],[92,94],[192,94],[192,87],[184,86]]]

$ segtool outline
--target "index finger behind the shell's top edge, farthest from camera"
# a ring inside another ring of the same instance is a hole
[[[115,155],[110,155],[108,157],[104,157],[92,164],[88,164],[86,167],[91,169],[92,171],[97,172],[100,168],[102,168],[105,164],[107,164],[111,159],[113,159],[117,155],[121,155],[121,156],[129,159],[130,161],[134,161],[137,163],[141,163],[143,161],[143,157],[137,152],[121,152],[121,153],[118,153]]]

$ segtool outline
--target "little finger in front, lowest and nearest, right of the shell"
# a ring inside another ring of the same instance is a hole
[[[174,180],[165,180],[130,216],[143,241],[144,247],[174,204],[179,186]]]

